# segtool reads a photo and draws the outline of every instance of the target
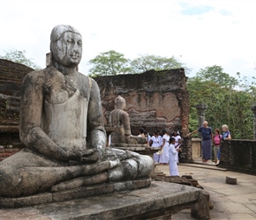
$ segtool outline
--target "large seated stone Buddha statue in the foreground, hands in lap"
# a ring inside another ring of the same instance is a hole
[[[154,169],[148,156],[105,147],[99,87],[78,71],[82,43],[74,27],[54,27],[47,68],[24,78],[19,136],[26,148],[0,162],[0,197],[139,180]]]

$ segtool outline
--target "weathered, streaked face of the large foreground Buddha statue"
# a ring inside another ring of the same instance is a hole
[[[79,33],[64,32],[55,42],[51,42],[50,49],[56,62],[76,67],[82,58],[82,37]]]

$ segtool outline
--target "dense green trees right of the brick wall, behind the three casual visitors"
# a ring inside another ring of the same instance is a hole
[[[212,66],[200,70],[196,77],[187,81],[190,97],[190,130],[197,129],[198,118],[195,106],[207,104],[206,120],[213,129],[228,124],[233,139],[253,139],[253,114],[255,101],[254,83],[247,78],[230,77],[222,67]]]

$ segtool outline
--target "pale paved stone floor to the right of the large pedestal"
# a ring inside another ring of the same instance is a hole
[[[157,169],[169,175],[168,165],[157,165]],[[210,202],[214,205],[210,215],[212,220],[249,220],[256,219],[256,177],[254,175],[230,172],[206,164],[179,164],[179,175],[192,175],[200,186],[210,194]],[[226,184],[226,177],[237,179],[237,185]],[[172,220],[189,220],[190,209],[183,209],[171,216]]]

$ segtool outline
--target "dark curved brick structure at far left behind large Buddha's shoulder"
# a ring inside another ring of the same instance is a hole
[[[22,80],[33,69],[0,59],[0,160],[19,151],[19,100]]]

